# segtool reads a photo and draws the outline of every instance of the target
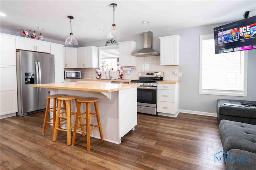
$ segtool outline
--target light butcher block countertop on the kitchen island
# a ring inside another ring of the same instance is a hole
[[[31,87],[53,88],[65,90],[81,90],[88,92],[116,92],[128,88],[135,88],[137,84],[111,84],[111,83],[81,83],[81,82],[65,82],[65,83],[50,83],[50,84],[31,84]]]

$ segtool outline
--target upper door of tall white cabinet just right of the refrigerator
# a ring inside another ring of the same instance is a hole
[[[51,54],[54,55],[54,66],[63,67],[64,66],[64,52],[63,45],[51,43]]]

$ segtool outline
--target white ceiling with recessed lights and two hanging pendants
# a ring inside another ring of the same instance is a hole
[[[1,29],[20,32],[30,28],[43,33],[45,38],[65,41],[72,33],[79,43],[106,39],[113,23],[113,8],[116,3],[115,24],[122,37],[137,35],[147,31],[168,31],[242,20],[245,11],[249,17],[256,16],[256,0],[55,0],[55,1],[15,1],[1,0]],[[150,21],[142,24],[142,21]],[[37,27],[43,27],[40,30]],[[105,31],[98,31],[104,29]]]

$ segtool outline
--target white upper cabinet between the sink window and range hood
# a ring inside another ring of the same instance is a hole
[[[137,43],[135,41],[119,42],[120,65],[136,66],[136,57],[131,54],[136,51]]]

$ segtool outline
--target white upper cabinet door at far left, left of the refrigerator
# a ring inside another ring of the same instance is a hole
[[[16,66],[16,44],[15,37],[0,34],[1,57],[0,65]]]

